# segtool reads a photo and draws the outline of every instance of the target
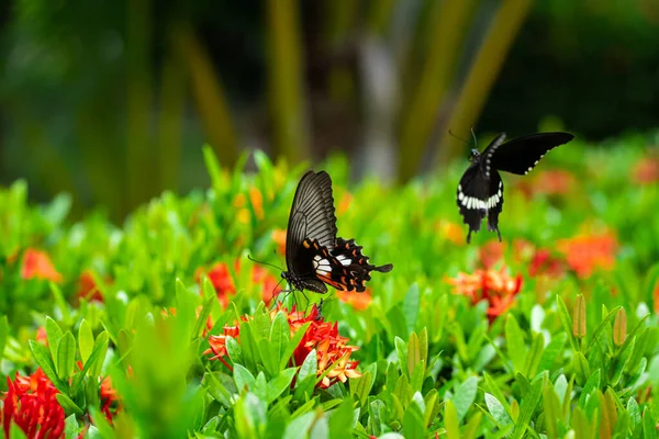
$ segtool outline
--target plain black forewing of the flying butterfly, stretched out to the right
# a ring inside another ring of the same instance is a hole
[[[482,166],[492,166],[501,171],[528,173],[547,151],[567,144],[574,136],[570,133],[537,133],[514,138],[503,145],[493,142],[483,151]]]

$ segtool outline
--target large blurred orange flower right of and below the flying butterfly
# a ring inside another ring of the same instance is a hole
[[[613,235],[576,236],[561,239],[557,248],[566,255],[568,264],[579,278],[589,278],[595,269],[613,268],[617,241]]]

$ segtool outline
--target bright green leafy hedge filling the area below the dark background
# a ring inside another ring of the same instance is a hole
[[[394,270],[373,274],[369,293],[324,296],[322,318],[293,326],[304,313],[291,306],[309,314],[320,297],[289,295],[284,308],[268,308],[261,299],[279,273],[247,255],[283,263],[272,256],[273,236],[286,227],[301,169],[259,154],[256,173],[228,172],[206,150],[211,189],[165,193],[122,228],[98,215],[67,224],[60,201],[31,206],[18,182],[0,191],[3,372],[15,380],[43,370],[67,437],[654,437],[658,250],[634,235],[629,217],[644,217],[648,236],[659,237],[656,215],[645,216],[659,189],[582,165],[619,173],[640,157],[634,148],[588,153],[579,165],[572,160],[584,153],[574,149],[555,161],[582,180],[572,192],[526,200],[521,183],[506,187],[506,240],[523,237],[562,263],[555,274],[532,274],[533,257],[504,248],[488,275],[504,264],[520,274],[507,311],[473,304],[449,284],[483,264],[492,246],[466,246],[462,228],[450,232],[458,168],[400,191],[366,181],[348,195],[346,165],[332,161],[340,236],[357,237],[372,261]],[[603,202],[625,214],[600,210]],[[596,218],[574,212],[584,203]],[[593,224],[615,230],[619,249],[611,267],[578,274],[559,243]],[[474,241],[492,238],[481,232]],[[60,278],[25,275],[29,249],[45,251]],[[102,300],[80,293],[83,273]],[[496,279],[490,294],[503,294]],[[350,302],[365,299],[366,307]],[[359,374],[336,378],[347,358],[324,362],[327,347],[309,345],[321,323],[336,323],[358,348],[349,361],[359,361]],[[225,352],[209,335],[224,337]],[[108,378],[118,395],[111,415]],[[14,427],[11,435],[21,437]]]

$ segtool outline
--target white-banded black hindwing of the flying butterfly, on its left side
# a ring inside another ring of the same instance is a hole
[[[467,243],[471,241],[471,233],[480,230],[481,221],[487,215],[489,179],[474,162],[465,171],[458,184],[457,203],[462,215],[462,221],[469,226]]]

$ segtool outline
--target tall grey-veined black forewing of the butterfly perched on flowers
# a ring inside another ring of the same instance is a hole
[[[308,238],[317,240],[321,247],[330,248],[336,239],[332,179],[325,171],[306,172],[293,198],[286,235],[286,264],[293,274],[312,274],[309,267],[315,255],[312,252],[310,258],[312,250],[303,246]],[[309,267],[305,267],[306,263]]]

